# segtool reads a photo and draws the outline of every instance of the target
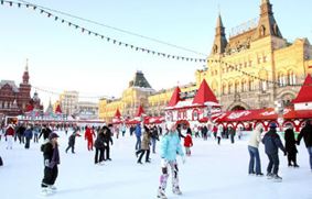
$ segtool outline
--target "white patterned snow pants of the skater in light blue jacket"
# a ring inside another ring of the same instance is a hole
[[[176,161],[170,161],[166,165],[162,165],[162,175],[160,176],[160,186],[159,188],[165,190],[166,181],[169,178],[168,168],[171,167],[172,173],[172,190],[179,189],[179,168]]]

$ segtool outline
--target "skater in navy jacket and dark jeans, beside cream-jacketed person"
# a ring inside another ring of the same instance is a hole
[[[278,175],[280,164],[278,150],[280,148],[284,155],[287,155],[287,152],[281,143],[280,136],[277,133],[277,124],[270,123],[269,128],[270,130],[265,134],[262,139],[262,143],[265,144],[266,148],[266,154],[269,158],[267,176],[268,179],[273,178],[276,181],[281,181],[282,178]]]

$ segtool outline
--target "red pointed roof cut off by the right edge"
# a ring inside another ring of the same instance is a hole
[[[308,75],[298,96],[292,103],[312,102],[312,77]]]

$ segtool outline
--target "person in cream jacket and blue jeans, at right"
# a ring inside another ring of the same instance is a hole
[[[257,175],[257,176],[263,176],[261,173],[261,162],[260,162],[260,155],[259,155],[259,143],[261,141],[261,133],[263,132],[262,125],[257,125],[255,131],[251,132],[249,142],[248,142],[248,152],[250,155],[249,161],[249,175]],[[256,173],[255,173],[255,161],[256,161]]]

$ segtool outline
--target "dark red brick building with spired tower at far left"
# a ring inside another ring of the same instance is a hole
[[[26,111],[31,101],[31,85],[29,82],[29,67],[22,76],[22,82],[18,87],[13,80],[1,80],[0,82],[0,114],[19,115]]]

